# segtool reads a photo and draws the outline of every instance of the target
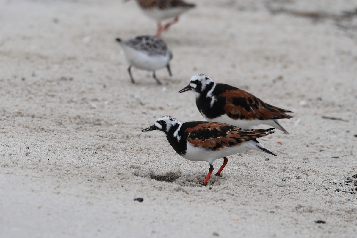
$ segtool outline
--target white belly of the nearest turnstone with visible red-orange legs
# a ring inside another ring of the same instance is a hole
[[[254,141],[247,141],[239,146],[225,147],[219,151],[212,151],[202,149],[200,147],[194,147],[191,143],[187,142],[187,151],[186,154],[182,157],[191,161],[207,161],[208,163],[212,164],[213,161],[215,161],[216,159],[220,159],[226,156],[234,155],[236,153],[252,149],[257,150],[256,142]]]

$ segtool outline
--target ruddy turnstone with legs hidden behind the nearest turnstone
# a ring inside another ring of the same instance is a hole
[[[288,134],[277,120],[290,119],[292,116],[286,112],[292,111],[269,105],[242,89],[215,83],[205,74],[194,75],[190,83],[178,93],[189,90],[195,92],[198,111],[207,121],[228,123],[246,129],[266,124]]]

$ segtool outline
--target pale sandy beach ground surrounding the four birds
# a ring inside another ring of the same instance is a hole
[[[195,2],[163,35],[174,53],[173,77],[157,71],[164,86],[136,69],[132,85],[115,42],[156,32],[134,1],[0,2],[0,237],[356,237],[357,38],[338,25],[357,17]],[[269,7],[357,7],[316,2]],[[163,115],[203,120],[193,93],[177,94],[197,73],[294,111],[281,122],[291,135],[260,140],[278,157],[230,156],[201,187],[208,163],[140,132]]]

